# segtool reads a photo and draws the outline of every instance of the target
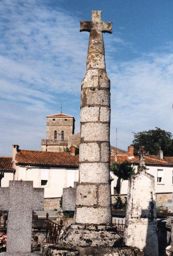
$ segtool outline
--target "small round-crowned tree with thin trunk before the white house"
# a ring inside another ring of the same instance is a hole
[[[132,165],[131,163],[124,161],[122,163],[119,162],[113,162],[110,165],[110,170],[111,172],[119,177],[120,179],[120,191],[119,191],[119,195],[121,196],[121,186],[122,186],[122,182],[124,180],[128,180],[129,177],[135,173],[135,167],[134,165]]]

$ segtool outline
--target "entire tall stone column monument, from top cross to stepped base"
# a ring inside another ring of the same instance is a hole
[[[138,249],[115,248],[122,246],[123,240],[116,227],[112,226],[110,80],[106,74],[102,35],[103,32],[112,33],[112,23],[101,20],[101,11],[92,11],[92,20],[82,20],[80,25],[80,31],[90,32],[90,38],[81,89],[80,165],[75,192],[75,223],[61,230],[59,245],[42,245],[42,254],[118,256],[138,253],[139,256],[142,254]]]

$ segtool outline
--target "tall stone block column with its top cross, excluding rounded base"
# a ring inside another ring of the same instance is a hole
[[[92,11],[92,21],[81,21],[80,31],[89,31],[90,39],[81,90],[76,223],[111,224],[110,80],[106,75],[102,32],[112,33],[112,23],[101,21],[101,11]]]

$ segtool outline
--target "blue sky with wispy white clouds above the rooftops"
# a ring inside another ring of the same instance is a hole
[[[171,0],[0,1],[0,155],[12,144],[40,150],[46,116],[75,117],[79,132],[80,89],[88,32],[80,20],[91,10],[113,22],[104,36],[111,80],[111,144],[127,149],[133,133],[173,133],[173,33]]]

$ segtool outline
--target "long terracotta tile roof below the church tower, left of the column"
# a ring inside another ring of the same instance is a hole
[[[48,152],[20,150],[15,158],[18,164],[78,166],[79,155],[72,156],[69,152]]]

